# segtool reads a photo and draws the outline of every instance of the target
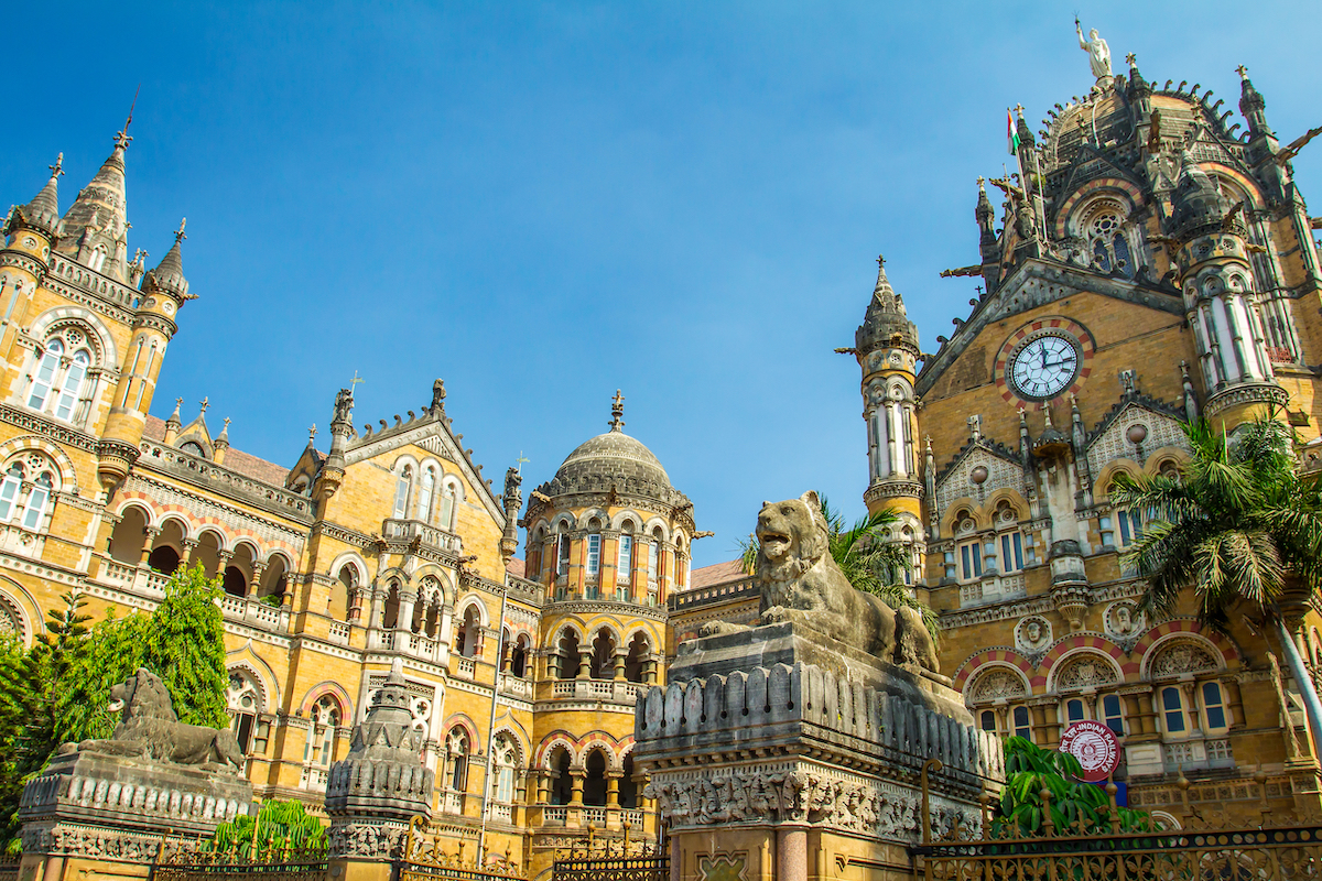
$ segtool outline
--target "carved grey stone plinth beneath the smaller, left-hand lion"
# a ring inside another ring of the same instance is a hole
[[[253,785],[229,770],[65,753],[22,791],[24,865],[57,863],[46,878],[74,877],[103,863],[141,865],[145,873],[144,864],[163,847],[192,844],[255,810]]]

